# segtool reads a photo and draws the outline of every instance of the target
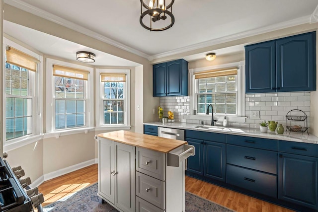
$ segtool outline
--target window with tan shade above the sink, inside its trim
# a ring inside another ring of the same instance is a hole
[[[211,104],[216,114],[238,115],[237,67],[195,72],[194,83],[198,114],[205,114]]]

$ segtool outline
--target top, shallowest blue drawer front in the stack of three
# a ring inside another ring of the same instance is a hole
[[[228,135],[227,143],[239,146],[277,151],[277,140],[271,139]]]

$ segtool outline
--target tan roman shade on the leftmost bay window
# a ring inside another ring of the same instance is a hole
[[[6,47],[6,63],[36,72],[36,65],[40,61],[12,47]]]

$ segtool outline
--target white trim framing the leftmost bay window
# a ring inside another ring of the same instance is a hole
[[[19,148],[21,146],[27,145],[32,142],[39,141],[42,139],[43,136],[43,126],[42,126],[42,111],[43,111],[43,81],[42,74],[43,74],[43,56],[32,52],[31,50],[3,37],[3,49],[2,49],[2,55],[3,55],[3,64],[2,69],[5,70],[5,46],[11,46],[21,52],[24,52],[25,54],[28,54],[40,61],[39,64],[37,64],[37,71],[34,74],[34,77],[30,78],[29,83],[34,84],[35,86],[32,87],[32,91],[34,98],[32,98],[34,101],[33,108],[32,108],[32,134],[22,136],[19,138],[11,139],[9,141],[3,141],[3,150],[4,151],[10,151],[16,148]],[[2,79],[5,80],[5,71],[3,71]],[[37,81],[37,83],[34,83],[34,81]],[[5,83],[3,82],[3,90],[5,90]],[[3,109],[5,108],[5,93],[3,94]],[[5,123],[5,111],[2,112],[2,123]],[[5,125],[5,124],[4,124]],[[3,135],[5,135],[5,127],[3,127]],[[5,137],[4,137],[5,138]]]

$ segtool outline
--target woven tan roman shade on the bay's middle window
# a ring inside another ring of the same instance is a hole
[[[54,76],[62,76],[67,78],[74,78],[74,79],[88,79],[89,71],[82,70],[82,69],[75,69],[65,66],[53,65],[53,75]]]

